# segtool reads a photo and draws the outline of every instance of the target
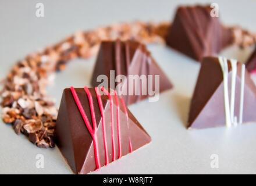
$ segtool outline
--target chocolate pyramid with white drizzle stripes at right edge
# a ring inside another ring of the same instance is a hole
[[[190,105],[189,127],[236,126],[256,121],[256,87],[242,63],[207,57]]]

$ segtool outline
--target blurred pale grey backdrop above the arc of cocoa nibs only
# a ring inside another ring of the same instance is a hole
[[[35,16],[36,3],[44,3],[45,17]],[[220,17],[227,25],[239,24],[256,32],[255,0],[0,0],[1,70],[30,52],[62,40],[77,30],[133,20],[172,20],[177,5],[219,4]],[[0,74],[0,78],[5,73]]]

